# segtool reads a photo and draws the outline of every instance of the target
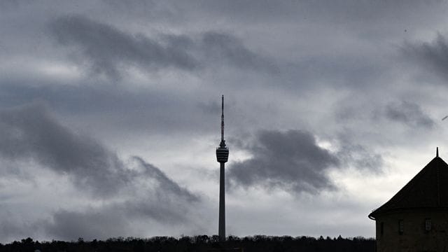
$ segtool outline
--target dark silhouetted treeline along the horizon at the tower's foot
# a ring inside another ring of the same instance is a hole
[[[0,251],[133,251],[133,252],[193,252],[223,251],[224,248],[240,248],[235,251],[244,252],[374,252],[375,239],[364,237],[290,237],[254,235],[249,237],[229,236],[225,242],[219,242],[218,236],[197,235],[194,237],[151,237],[139,239],[135,237],[117,237],[99,241],[33,241],[31,238],[0,244]],[[242,250],[241,250],[242,248]]]

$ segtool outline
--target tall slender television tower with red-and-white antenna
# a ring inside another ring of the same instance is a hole
[[[216,159],[220,163],[219,169],[219,226],[218,239],[225,241],[225,179],[224,164],[229,159],[229,149],[224,140],[224,95],[221,97],[221,144],[216,148]]]

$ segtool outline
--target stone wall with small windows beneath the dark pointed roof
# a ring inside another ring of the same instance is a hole
[[[426,220],[430,220],[428,231]],[[384,213],[376,218],[376,230],[377,252],[448,251],[448,210]]]

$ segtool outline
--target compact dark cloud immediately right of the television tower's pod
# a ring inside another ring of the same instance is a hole
[[[230,165],[231,183],[244,187],[265,185],[295,193],[334,188],[325,172],[339,165],[339,160],[319,147],[309,132],[262,131],[248,151],[252,158]]]

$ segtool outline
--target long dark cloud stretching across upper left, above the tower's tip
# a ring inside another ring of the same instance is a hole
[[[245,69],[272,71],[275,66],[246,48],[231,34],[207,31],[197,36],[130,34],[111,25],[83,16],[59,17],[50,22],[51,35],[61,45],[74,46],[78,63],[91,66],[94,73],[120,77],[121,69],[139,66],[146,71],[175,67],[186,71],[221,62]]]

